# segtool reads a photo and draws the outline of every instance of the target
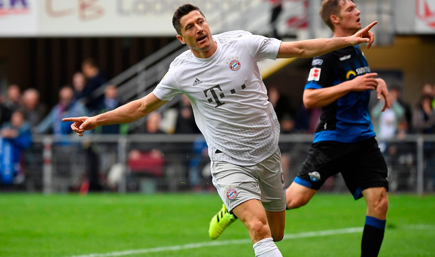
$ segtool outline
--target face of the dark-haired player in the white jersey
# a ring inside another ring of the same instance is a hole
[[[180,24],[181,35],[177,35],[177,38],[181,43],[189,46],[194,53],[204,53],[210,50],[213,39],[207,20],[201,13],[196,10],[191,11],[181,17]]]

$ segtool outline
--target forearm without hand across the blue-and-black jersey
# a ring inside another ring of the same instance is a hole
[[[348,83],[343,82],[336,86],[322,89],[305,89],[303,101],[307,108],[319,108],[335,102],[351,91]]]

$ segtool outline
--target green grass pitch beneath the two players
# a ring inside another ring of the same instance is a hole
[[[435,256],[435,196],[389,199],[379,256]],[[253,257],[240,221],[218,240],[208,238],[220,207],[217,194],[0,194],[0,256]],[[277,245],[284,257],[359,256],[364,220],[364,200],[318,194],[287,211],[286,237]],[[338,230],[347,228],[357,231]]]

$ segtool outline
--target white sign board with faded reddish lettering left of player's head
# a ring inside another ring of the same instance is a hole
[[[44,0],[40,33],[56,36],[174,35],[172,11],[159,1]]]

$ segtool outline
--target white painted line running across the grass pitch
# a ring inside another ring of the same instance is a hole
[[[359,233],[362,231],[363,231],[363,227],[349,227],[349,228],[334,229],[334,230],[302,232],[297,234],[285,234],[283,240],[305,238],[305,237],[324,237],[324,236],[338,235],[338,234],[352,234],[352,233]],[[248,244],[248,243],[251,243],[250,239],[211,241],[211,242],[202,242],[196,244],[182,244],[182,245],[165,246],[165,247],[125,250],[125,251],[111,252],[105,254],[74,255],[70,257],[117,257],[117,256],[126,256],[132,254],[147,254],[147,253],[156,253],[156,252],[164,252],[164,251],[176,251],[176,250],[186,250],[186,249],[194,249],[194,248],[201,248],[201,247],[222,246],[222,245],[229,245],[229,244]]]

